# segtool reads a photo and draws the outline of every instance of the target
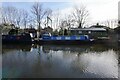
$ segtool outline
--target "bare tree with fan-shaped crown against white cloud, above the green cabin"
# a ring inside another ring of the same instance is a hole
[[[74,7],[73,17],[74,17],[74,20],[77,22],[79,28],[84,27],[86,20],[88,18],[88,15],[89,13],[86,10],[85,6]]]

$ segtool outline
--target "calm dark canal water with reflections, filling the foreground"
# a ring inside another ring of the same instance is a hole
[[[120,50],[96,45],[2,45],[2,78],[118,78]]]

